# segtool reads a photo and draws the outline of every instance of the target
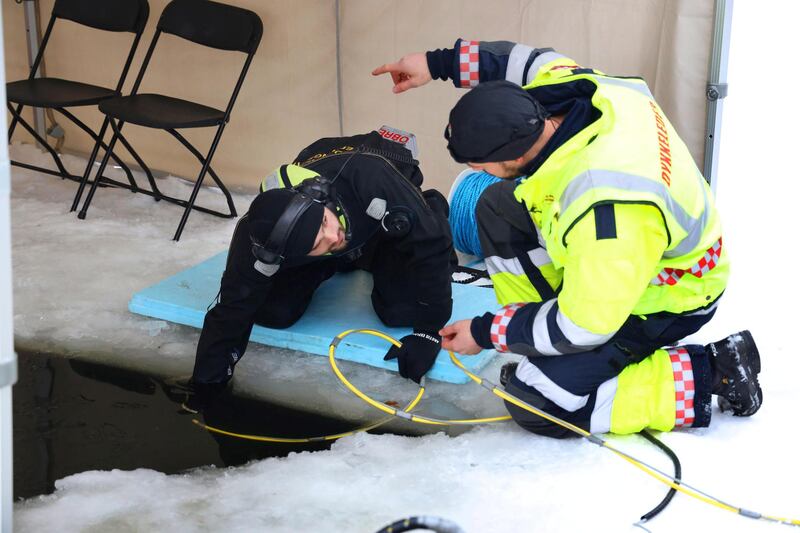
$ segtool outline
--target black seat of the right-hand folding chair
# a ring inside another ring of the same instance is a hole
[[[112,98],[100,103],[100,111],[123,122],[162,130],[217,126],[225,120],[225,111],[161,94]]]

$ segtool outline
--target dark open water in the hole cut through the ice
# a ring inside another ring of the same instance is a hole
[[[13,395],[15,499],[51,493],[57,479],[86,470],[151,468],[171,474],[330,447],[208,433],[192,423],[194,416],[180,409],[179,398],[163,381],[75,359],[20,353]],[[327,435],[352,427],[232,395],[223,396],[204,422],[237,433],[280,437]]]

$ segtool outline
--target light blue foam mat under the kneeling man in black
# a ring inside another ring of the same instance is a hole
[[[134,313],[196,328],[203,327],[206,308],[214,300],[227,252],[179,272],[133,295],[128,309]],[[348,329],[377,329],[396,339],[411,332],[409,328],[389,328],[372,310],[370,293],[372,277],[362,271],[337,274],[314,294],[303,317],[288,329],[255,326],[250,341],[289,348],[317,355],[328,355],[331,340]],[[453,284],[453,316],[451,322],[472,318],[499,307],[494,291],[488,288]],[[384,361],[389,344],[371,335],[350,335],[336,350],[338,359],[346,359],[397,371],[396,361]],[[478,355],[461,358],[464,366],[478,372],[494,357],[484,350]],[[469,378],[450,361],[447,352],[440,352],[428,378],[450,383],[467,383]]]

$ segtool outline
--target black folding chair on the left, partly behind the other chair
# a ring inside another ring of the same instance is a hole
[[[108,128],[108,117],[103,120],[100,132],[95,133],[65,108],[97,105],[103,100],[119,96],[122,84],[125,82],[125,77],[128,74],[128,69],[131,66],[133,55],[136,52],[136,47],[139,44],[142,32],[147,24],[147,17],[149,14],[150,7],[147,0],[56,0],[53,6],[53,13],[50,16],[50,22],[45,30],[42,43],[39,47],[39,53],[36,55],[36,59],[33,62],[28,79],[14,81],[6,85],[6,105],[12,117],[11,125],[8,128],[9,142],[11,142],[11,136],[14,133],[17,123],[21,124],[22,127],[50,153],[58,170],[29,165],[19,161],[11,161],[12,165],[61,176],[62,179],[69,178],[74,181],[82,181],[81,176],[70,174],[67,171],[64,164],[61,162],[61,158],[53,147],[22,118],[22,108],[24,106],[31,106],[55,109],[92,137],[92,139],[95,140],[96,150],[101,147],[107,150],[108,147],[103,143],[103,136]],[[131,49],[128,52],[125,66],[122,68],[122,74],[114,89],[60,78],[35,77],[57,19],[70,20],[83,26],[99,30],[129,32],[134,34],[133,44],[131,44]],[[16,104],[16,109],[12,104]],[[96,150],[94,157],[96,157]],[[131,175],[130,169],[115,154],[111,154],[111,156],[125,171],[128,183],[118,182],[110,178],[104,179],[117,186],[126,187],[135,191],[137,189],[136,181]],[[92,159],[89,166],[91,166],[93,161]]]

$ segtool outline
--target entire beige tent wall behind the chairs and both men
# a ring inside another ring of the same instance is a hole
[[[39,3],[44,26],[53,0]],[[254,190],[265,172],[318,137],[390,124],[418,136],[426,178],[446,192],[459,168],[447,155],[442,131],[448,111],[463,92],[434,83],[425,90],[394,95],[388,79],[373,78],[370,72],[408,52],[450,47],[457,37],[550,46],[609,74],[643,76],[703,166],[713,0],[228,3],[255,11],[264,21],[261,47],[214,158],[214,167],[234,187]],[[150,20],[125,90],[166,4],[167,0],[150,1]],[[27,74],[23,9],[14,0],[3,0],[3,7],[6,77],[23,78]],[[131,42],[129,36],[72,22],[57,25],[52,39],[45,56],[48,75],[107,86],[114,85]],[[141,90],[224,107],[241,59],[240,54],[165,38]],[[95,110],[76,114],[99,125]],[[65,119],[59,123],[67,130],[66,149],[90,151],[88,137]],[[24,139],[23,133],[15,133],[15,139]],[[200,147],[211,142],[210,130],[187,133]],[[196,160],[167,134],[130,127],[127,135],[153,168],[190,179],[197,174]]]

